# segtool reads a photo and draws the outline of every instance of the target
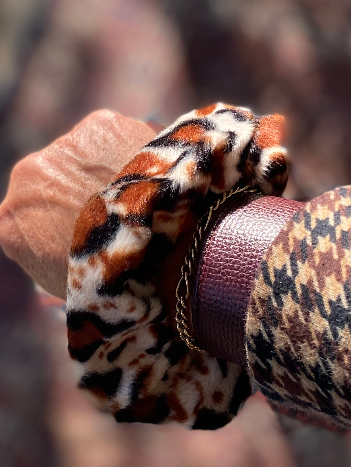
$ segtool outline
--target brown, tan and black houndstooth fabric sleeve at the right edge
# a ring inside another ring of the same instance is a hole
[[[250,373],[279,411],[351,429],[351,187],[307,203],[260,264]]]

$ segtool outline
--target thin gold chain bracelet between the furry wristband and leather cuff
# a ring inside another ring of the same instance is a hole
[[[190,350],[197,350],[198,352],[203,352],[203,350],[195,344],[195,339],[190,334],[188,318],[186,316],[186,301],[190,296],[190,277],[195,272],[194,269],[196,255],[200,247],[200,241],[203,239],[204,233],[206,232],[210,220],[212,219],[213,211],[216,211],[219,208],[219,206],[226,201],[226,199],[230,198],[233,195],[236,195],[237,193],[242,192],[259,194],[259,191],[257,191],[256,188],[253,188],[249,185],[246,185],[243,188],[238,187],[235,190],[231,188],[226,193],[223,193],[222,197],[218,198],[217,201],[210,206],[208,212],[206,212],[197,222],[197,229],[192,236],[193,242],[188,248],[189,254],[184,258],[184,264],[181,268],[182,276],[176,288],[176,322],[179,335],[181,339],[185,341],[186,345],[190,348]]]

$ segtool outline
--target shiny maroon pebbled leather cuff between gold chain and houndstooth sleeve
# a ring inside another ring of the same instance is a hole
[[[223,205],[202,248],[191,299],[197,344],[246,365],[244,325],[264,252],[303,203],[242,193]]]

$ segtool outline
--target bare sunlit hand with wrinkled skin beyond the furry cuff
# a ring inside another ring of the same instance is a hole
[[[45,290],[65,299],[67,257],[80,208],[154,136],[144,123],[101,110],[22,159],[0,205],[5,253]]]

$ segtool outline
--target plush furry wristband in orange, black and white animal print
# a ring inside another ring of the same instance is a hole
[[[67,286],[80,386],[117,421],[225,425],[249,394],[245,370],[190,351],[174,325],[180,267],[214,194],[243,183],[280,195],[278,115],[215,104],[180,117],[80,212]]]

